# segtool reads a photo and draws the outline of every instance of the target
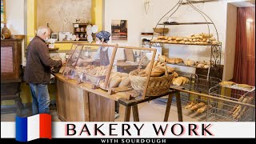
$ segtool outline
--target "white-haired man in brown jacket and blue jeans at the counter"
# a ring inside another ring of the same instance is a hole
[[[50,69],[64,64],[62,61],[54,61],[50,58],[46,45],[49,37],[50,29],[40,26],[37,36],[27,47],[24,80],[30,84],[33,115],[50,114],[50,96],[47,87],[50,82]]]

